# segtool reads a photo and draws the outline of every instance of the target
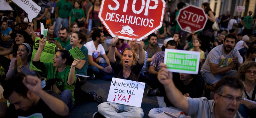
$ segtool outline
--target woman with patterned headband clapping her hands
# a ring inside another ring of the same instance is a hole
[[[13,58],[10,63],[6,78],[9,79],[17,73],[24,73],[25,75],[32,76],[36,75],[36,72],[32,72],[29,70],[32,50],[33,47],[28,43],[22,43],[19,46],[16,58]]]

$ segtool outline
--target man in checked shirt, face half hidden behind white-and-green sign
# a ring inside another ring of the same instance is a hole
[[[170,40],[166,44],[167,49],[176,49],[176,42]],[[160,69],[160,63],[164,63],[164,51],[156,53],[149,67],[149,74],[146,74],[144,81],[151,86],[151,89],[148,89],[147,95],[164,95],[163,85],[157,80],[157,74]]]

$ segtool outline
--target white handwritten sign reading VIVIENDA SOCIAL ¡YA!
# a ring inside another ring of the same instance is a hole
[[[109,102],[140,107],[145,83],[126,79],[112,78],[108,92]]]

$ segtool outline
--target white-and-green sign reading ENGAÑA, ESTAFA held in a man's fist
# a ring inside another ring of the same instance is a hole
[[[199,61],[200,52],[165,49],[164,63],[169,71],[197,74]]]

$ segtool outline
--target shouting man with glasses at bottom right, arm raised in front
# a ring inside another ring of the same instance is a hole
[[[164,85],[166,95],[176,109],[165,109],[155,111],[157,118],[176,117],[183,111],[192,118],[242,118],[237,112],[242,102],[243,83],[235,77],[227,76],[222,78],[216,85],[214,100],[206,98],[189,98],[175,87],[172,72],[169,72],[167,65],[160,64],[161,69],[157,76]],[[150,116],[150,114],[149,114]]]

